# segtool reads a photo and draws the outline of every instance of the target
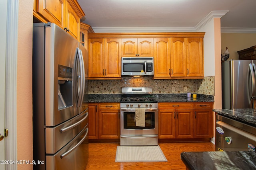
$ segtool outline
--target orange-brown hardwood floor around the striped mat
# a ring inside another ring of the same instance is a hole
[[[186,170],[181,152],[214,151],[215,145],[202,143],[159,143],[168,162],[115,162],[119,143],[89,143],[86,170]]]

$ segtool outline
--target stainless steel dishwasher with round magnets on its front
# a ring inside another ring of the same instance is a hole
[[[255,152],[256,127],[216,114],[216,151]]]

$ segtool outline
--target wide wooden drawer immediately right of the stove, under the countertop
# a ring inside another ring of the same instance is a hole
[[[159,109],[193,109],[193,102],[170,102],[158,103]]]

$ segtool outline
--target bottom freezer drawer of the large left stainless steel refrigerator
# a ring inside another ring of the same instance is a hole
[[[88,162],[88,127],[56,154],[46,154],[46,170],[84,170]]]

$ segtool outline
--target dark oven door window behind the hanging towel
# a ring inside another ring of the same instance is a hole
[[[145,113],[145,127],[138,127],[134,121],[135,112],[124,112],[124,129],[154,129],[155,112]]]

